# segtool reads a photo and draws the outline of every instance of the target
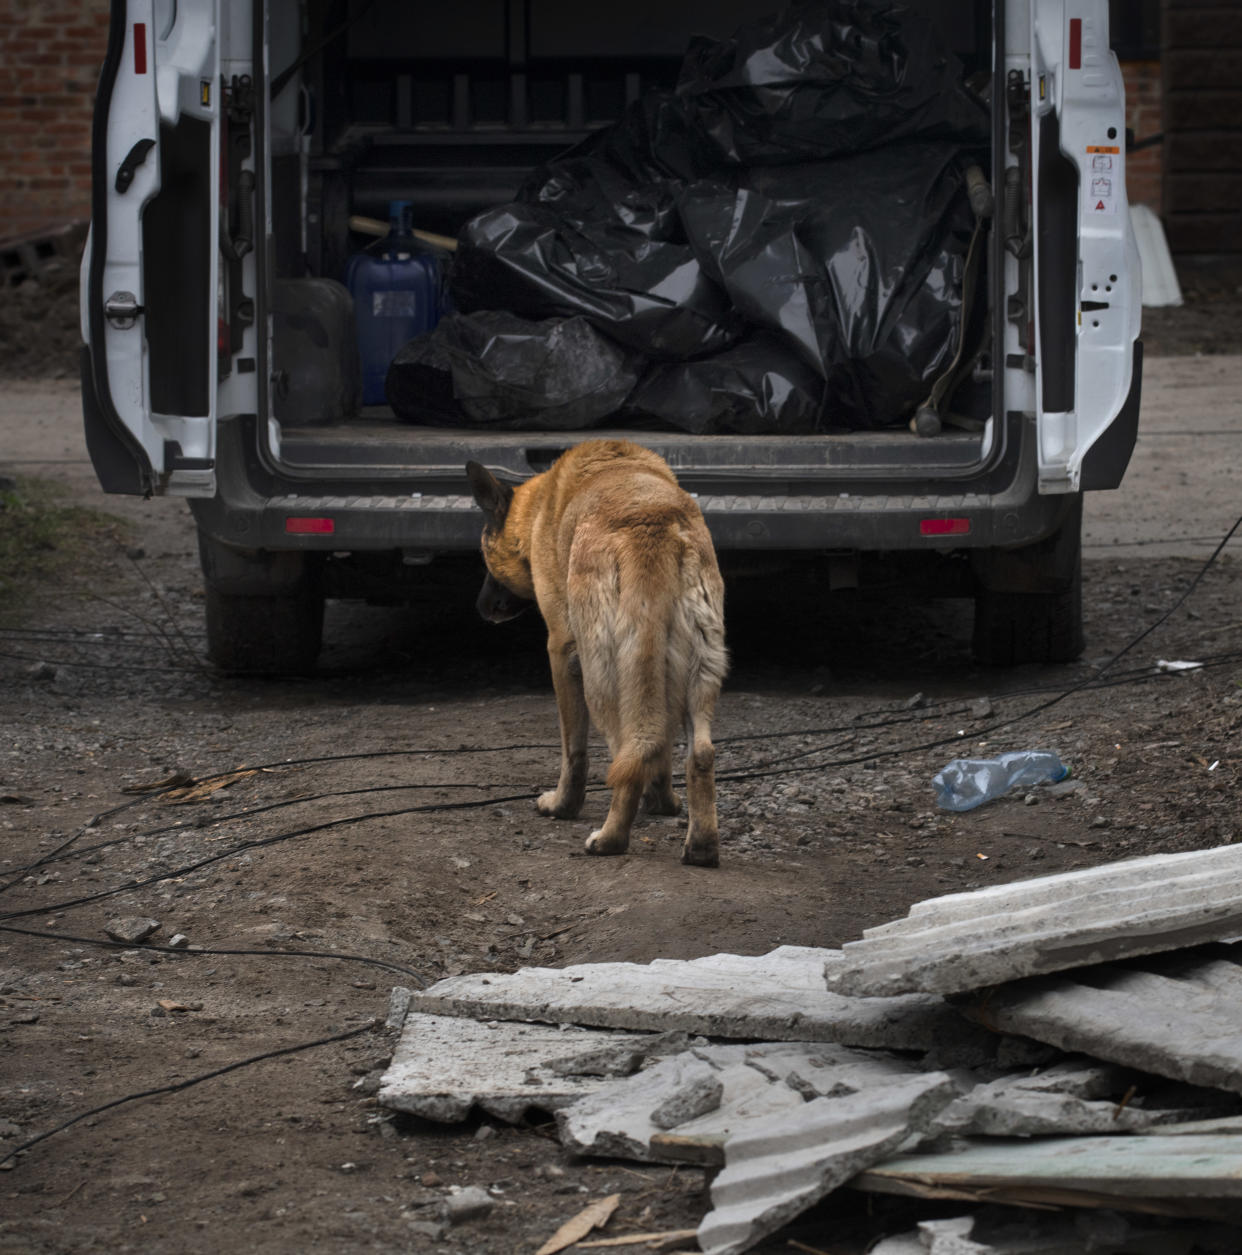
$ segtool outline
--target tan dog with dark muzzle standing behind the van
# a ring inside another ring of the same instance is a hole
[[[612,804],[587,851],[620,855],[640,799],[680,807],[672,742],[685,730],[690,823],[681,861],[715,867],[711,717],[728,670],[724,581],[703,515],[667,463],[627,441],[588,441],[516,488],[467,466],[486,516],[479,594],[501,622],[536,601],[561,717],[561,779],[536,806],[572,820],[587,777],[587,712],[612,753]]]

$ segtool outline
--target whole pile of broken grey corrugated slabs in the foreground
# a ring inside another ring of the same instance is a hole
[[[538,1108],[571,1153],[715,1171],[711,1255],[846,1185],[1010,1205],[881,1255],[1242,1250],[1199,1224],[1242,1217],[1239,870],[1224,847],[955,894],[843,951],[450,978],[409,995],[379,1101]]]

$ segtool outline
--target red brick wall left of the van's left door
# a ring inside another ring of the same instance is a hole
[[[90,213],[108,0],[0,0],[0,238]]]

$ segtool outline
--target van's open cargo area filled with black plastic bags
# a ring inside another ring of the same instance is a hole
[[[280,462],[528,474],[590,430],[720,487],[977,469],[992,301],[966,176],[990,212],[990,6],[876,8],[312,5],[301,51],[273,36]],[[422,318],[408,289],[350,282],[394,212],[394,259],[443,279]],[[353,329],[321,280],[351,289]],[[394,296],[411,340],[452,312],[414,354],[385,346],[383,397],[361,324]]]

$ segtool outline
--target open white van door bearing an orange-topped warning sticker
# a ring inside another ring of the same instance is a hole
[[[1093,446],[1123,408],[1128,419],[1137,409],[1127,407],[1142,275],[1125,196],[1125,90],[1108,0],[1032,0],[1031,21],[1039,488],[1078,492],[1099,478],[1083,474]],[[1124,469],[1129,447],[1108,443]]]

